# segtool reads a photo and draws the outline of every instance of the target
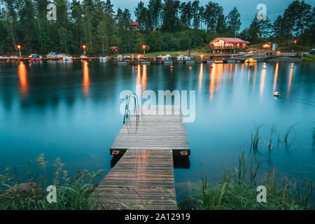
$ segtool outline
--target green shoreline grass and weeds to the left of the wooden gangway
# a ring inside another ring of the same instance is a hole
[[[54,163],[56,169],[53,185],[57,189],[57,202],[48,203],[46,200],[46,188],[48,187],[45,178],[47,161],[43,155],[38,158],[41,165],[42,175],[39,177],[39,188],[30,190],[18,190],[19,179],[17,174],[10,174],[10,169],[0,175],[0,210],[86,210],[91,209],[90,197],[94,190],[94,181],[102,176],[100,172],[83,170],[78,172],[72,179],[69,179],[64,164],[59,158]],[[29,183],[34,183],[35,178],[29,177]],[[60,183],[62,182],[62,184]],[[10,193],[8,193],[10,190]]]

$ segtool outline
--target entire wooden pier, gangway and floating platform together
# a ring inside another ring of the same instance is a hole
[[[173,155],[190,155],[180,108],[140,111],[111,146],[112,155],[123,156],[94,190],[98,209],[177,209]]]

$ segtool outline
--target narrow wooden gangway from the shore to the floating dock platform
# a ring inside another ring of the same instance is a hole
[[[98,209],[177,209],[172,150],[127,150],[93,193]]]

